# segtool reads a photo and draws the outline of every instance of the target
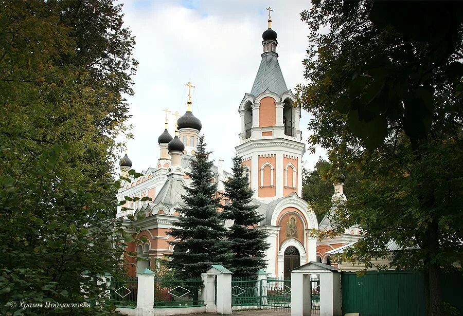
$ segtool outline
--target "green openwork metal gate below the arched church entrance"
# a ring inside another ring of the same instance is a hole
[[[232,310],[276,309],[291,311],[291,280],[267,277],[231,279]]]

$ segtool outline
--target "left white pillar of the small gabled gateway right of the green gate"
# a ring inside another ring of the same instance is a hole
[[[307,271],[292,271],[291,272],[291,316],[310,316],[311,315],[311,309],[310,309],[311,297],[310,296],[311,296],[310,274],[308,274]]]

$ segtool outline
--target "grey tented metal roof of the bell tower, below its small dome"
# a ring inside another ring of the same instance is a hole
[[[277,95],[288,91],[278,63],[278,54],[275,52],[265,52],[262,54],[262,60],[259,70],[257,70],[251,94],[257,96],[266,89],[275,92]]]

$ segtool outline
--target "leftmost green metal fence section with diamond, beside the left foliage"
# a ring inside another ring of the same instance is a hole
[[[137,277],[111,277],[110,296],[116,306],[135,308],[137,306]]]

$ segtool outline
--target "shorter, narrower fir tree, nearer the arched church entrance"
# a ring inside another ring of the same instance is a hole
[[[254,191],[249,187],[245,172],[239,156],[233,158],[231,177],[224,182],[225,198],[223,215],[234,221],[228,232],[233,258],[231,268],[235,275],[254,275],[257,270],[265,268],[264,252],[269,248],[266,243],[266,233],[255,229],[263,216],[256,212],[258,206],[251,204]]]

